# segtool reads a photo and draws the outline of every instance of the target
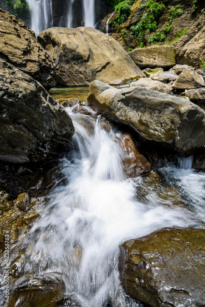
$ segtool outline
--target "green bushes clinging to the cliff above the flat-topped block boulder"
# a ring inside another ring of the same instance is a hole
[[[145,44],[145,34],[152,33],[156,31],[157,25],[159,24],[159,18],[164,9],[164,4],[160,2],[155,2],[154,0],[149,0],[147,4],[140,5],[138,9],[147,8],[147,11],[142,15],[140,21],[136,25],[132,25],[130,28],[131,34],[137,37],[137,42],[141,46]],[[172,28],[172,21],[179,17],[183,13],[183,10],[176,6],[169,6],[168,10],[168,23],[165,26],[163,32],[160,29],[155,36],[149,36],[149,44],[154,44],[157,41],[164,42],[167,38],[168,33]]]

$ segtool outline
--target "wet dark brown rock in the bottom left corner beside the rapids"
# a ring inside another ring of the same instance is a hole
[[[65,286],[60,282],[38,281],[36,284],[30,284],[26,287],[16,289],[10,293],[8,307],[57,307],[63,298]]]

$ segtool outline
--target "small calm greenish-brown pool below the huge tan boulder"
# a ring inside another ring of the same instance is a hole
[[[84,87],[53,87],[50,89],[49,94],[53,99],[69,99],[77,98],[80,102],[87,100],[89,93],[89,86]]]

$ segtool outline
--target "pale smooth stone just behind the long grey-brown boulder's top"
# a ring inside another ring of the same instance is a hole
[[[164,84],[160,81],[150,80],[149,78],[139,79],[132,83],[130,87],[133,86],[142,86],[149,88],[152,91],[158,91],[160,93],[170,94],[170,88],[167,84]]]

